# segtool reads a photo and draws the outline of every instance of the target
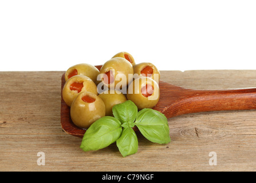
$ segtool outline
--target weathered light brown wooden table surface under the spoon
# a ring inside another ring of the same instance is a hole
[[[255,171],[256,110],[204,112],[168,119],[170,144],[137,133],[139,149],[123,158],[116,144],[94,152],[61,129],[64,71],[0,72],[0,171]],[[256,87],[256,70],[161,71],[190,89]],[[44,152],[45,165],[38,165]],[[209,153],[214,152],[216,165]]]

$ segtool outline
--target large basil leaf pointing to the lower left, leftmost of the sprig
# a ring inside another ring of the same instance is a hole
[[[80,148],[84,151],[103,149],[115,142],[121,133],[119,120],[111,116],[101,117],[86,130]]]

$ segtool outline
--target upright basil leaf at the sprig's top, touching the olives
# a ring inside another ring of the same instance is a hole
[[[124,122],[132,124],[137,117],[138,108],[132,101],[127,100],[121,104],[114,105],[112,112],[114,117],[122,124]]]

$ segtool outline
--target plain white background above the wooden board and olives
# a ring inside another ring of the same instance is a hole
[[[256,1],[2,1],[0,71],[101,65],[256,69]]]

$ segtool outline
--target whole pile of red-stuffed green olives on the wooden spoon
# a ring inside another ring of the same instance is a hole
[[[149,62],[135,64],[131,54],[120,52],[101,69],[88,63],[69,67],[65,73],[62,98],[70,106],[73,123],[82,129],[127,100],[139,110],[153,108],[159,101],[160,72]]]

